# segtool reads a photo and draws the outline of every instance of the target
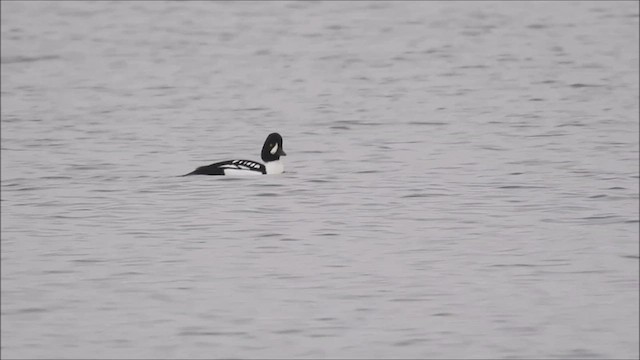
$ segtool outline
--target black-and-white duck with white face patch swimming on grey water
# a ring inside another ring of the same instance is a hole
[[[286,156],[282,148],[282,136],[277,132],[269,134],[262,145],[261,158],[264,164],[253,160],[226,160],[211,165],[200,166],[188,175],[274,175],[284,172],[281,156]]]

